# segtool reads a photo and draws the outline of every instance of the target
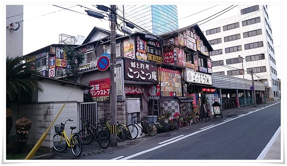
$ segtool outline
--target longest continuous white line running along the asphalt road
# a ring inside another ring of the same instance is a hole
[[[270,106],[267,106],[267,107],[270,107]],[[267,108],[267,107],[266,107],[266,108]],[[262,108],[261,108],[261,109],[257,109],[257,110],[255,110],[254,112],[259,111],[259,110],[262,110]],[[253,112],[251,112],[251,113],[253,113]],[[234,119],[231,119],[230,121],[236,120],[236,119],[238,119],[238,118],[241,118],[241,117],[243,117],[243,116],[249,115],[249,114],[251,114],[251,113],[247,113],[247,114],[244,114],[244,115],[242,115],[242,116],[240,116],[240,117],[236,117],[236,118],[234,118]],[[153,147],[153,148],[151,148],[151,149],[144,150],[144,151],[142,151],[142,152],[133,154],[133,155],[131,155],[131,156],[128,156],[128,157],[125,157],[125,158],[122,158],[122,159],[119,159],[119,160],[128,160],[128,159],[131,159],[131,158],[140,156],[140,155],[142,155],[142,154],[144,154],[144,153],[151,152],[151,151],[156,150],[156,149],[158,149],[158,148],[164,147],[164,146],[166,146],[166,145],[172,144],[172,143],[177,142],[177,141],[179,141],[179,140],[182,140],[182,139],[185,139],[185,138],[190,137],[190,136],[192,136],[192,135],[198,134],[198,133],[203,132],[203,131],[205,131],[205,130],[208,130],[208,129],[210,129],[210,128],[213,128],[213,127],[216,127],[216,126],[219,126],[219,125],[228,123],[228,122],[230,122],[230,121],[225,121],[225,122],[222,122],[222,123],[220,123],[220,124],[215,124],[215,125],[209,126],[208,128],[204,128],[204,129],[202,129],[202,130],[195,131],[195,132],[193,132],[193,133],[191,133],[191,134],[188,134],[188,135],[185,135],[185,136],[181,136],[180,138],[177,138],[177,139],[175,139],[175,140],[173,140],[173,141],[164,143],[164,144],[162,144],[162,145],[158,145],[158,146]]]

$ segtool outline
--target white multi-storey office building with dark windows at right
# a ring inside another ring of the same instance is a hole
[[[200,26],[214,49],[209,52],[212,72],[248,80],[253,72],[255,82],[265,83],[267,99],[279,99],[268,6],[237,7],[238,15]]]

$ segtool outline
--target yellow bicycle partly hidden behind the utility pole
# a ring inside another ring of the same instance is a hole
[[[109,115],[110,114],[108,113],[106,118],[99,119],[99,122],[101,124],[99,127],[108,133],[110,133],[111,130],[111,124],[107,122],[107,120],[110,119]],[[124,124],[119,124],[119,122],[117,122],[117,139],[120,141],[125,140],[127,138],[127,132],[127,127]]]

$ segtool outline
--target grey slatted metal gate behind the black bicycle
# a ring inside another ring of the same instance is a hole
[[[97,121],[97,102],[80,103],[80,128],[84,127],[85,121],[90,119],[90,124],[95,126]]]

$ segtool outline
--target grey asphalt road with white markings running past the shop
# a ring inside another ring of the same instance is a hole
[[[252,112],[193,125],[181,131],[161,133],[124,150],[81,157],[79,160],[186,160],[255,161],[278,129],[280,104]],[[166,135],[166,136],[165,136]],[[257,160],[258,161],[258,160]]]

